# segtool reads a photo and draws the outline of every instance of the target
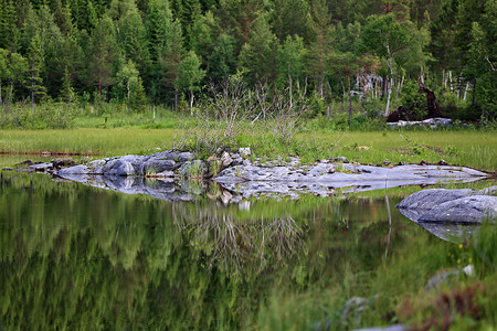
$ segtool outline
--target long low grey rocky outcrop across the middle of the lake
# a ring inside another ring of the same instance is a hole
[[[250,148],[235,152],[219,150],[207,160],[189,151],[167,150],[151,156],[105,158],[84,164],[72,159],[54,159],[52,163],[29,166],[32,171],[52,173],[64,180],[88,183],[126,193],[151,194],[165,200],[190,200],[181,196],[189,181],[216,182],[225,191],[229,202],[239,202],[254,195],[287,195],[297,199],[300,193],[329,196],[342,193],[388,189],[438,182],[472,182],[489,174],[465,167],[440,164],[379,166],[350,163],[345,157],[302,164],[296,157],[263,161],[251,156]],[[149,184],[148,179],[156,179]],[[202,184],[195,192],[202,193]],[[200,192],[199,192],[200,190]],[[167,196],[163,192],[168,192]],[[170,194],[169,194],[170,193]],[[176,193],[176,195],[175,195]]]

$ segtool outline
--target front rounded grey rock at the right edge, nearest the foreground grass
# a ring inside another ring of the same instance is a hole
[[[442,203],[420,217],[419,222],[482,223],[495,222],[497,196],[473,195]]]

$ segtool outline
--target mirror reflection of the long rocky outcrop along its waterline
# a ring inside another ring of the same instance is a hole
[[[337,174],[338,175],[338,174]],[[403,188],[409,185],[433,185],[443,180],[447,183],[467,183],[482,180],[480,177],[461,179],[438,179],[427,177],[424,179],[391,179],[378,180],[367,178],[340,179],[337,181],[182,181],[178,178],[148,179],[138,177],[93,175],[93,174],[64,174],[55,175],[54,180],[68,180],[89,184],[95,188],[109,189],[127,194],[148,194],[165,201],[192,201],[204,195],[220,197],[224,203],[240,203],[251,196],[273,196],[298,199],[300,194],[341,197],[349,193],[367,192],[373,190]],[[484,179],[485,180],[485,179]]]

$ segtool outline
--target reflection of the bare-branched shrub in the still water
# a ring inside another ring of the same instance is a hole
[[[304,245],[304,228],[288,213],[240,220],[229,210],[209,205],[195,209],[193,215],[184,209],[173,207],[175,223],[189,234],[191,245],[205,255],[210,268],[262,271],[292,257]]]

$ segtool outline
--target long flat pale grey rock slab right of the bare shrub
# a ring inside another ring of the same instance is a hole
[[[244,196],[289,192],[327,196],[343,188],[348,188],[345,192],[348,193],[402,185],[472,182],[487,177],[485,172],[464,167],[411,164],[382,168],[320,162],[297,168],[236,166],[223,170],[214,181]]]

